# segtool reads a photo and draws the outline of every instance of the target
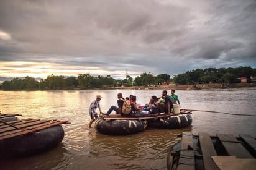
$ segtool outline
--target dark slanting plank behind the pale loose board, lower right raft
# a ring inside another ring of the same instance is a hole
[[[237,156],[237,158],[253,158],[243,145],[233,136],[227,134],[217,134],[222,145],[230,156]]]

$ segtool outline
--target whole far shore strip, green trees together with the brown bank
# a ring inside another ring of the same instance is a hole
[[[133,79],[130,75],[126,79],[114,79],[111,75],[96,77],[79,74],[78,77],[65,77],[62,75],[49,75],[40,82],[34,77],[15,77],[6,80],[0,85],[0,90],[85,90],[85,89],[208,89],[255,87],[256,69],[251,67],[237,68],[207,68],[195,69],[183,74],[173,75],[143,73]]]

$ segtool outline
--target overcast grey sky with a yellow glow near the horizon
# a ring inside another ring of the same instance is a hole
[[[0,1],[0,77],[256,67],[256,1]]]

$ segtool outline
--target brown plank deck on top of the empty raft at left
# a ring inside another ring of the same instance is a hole
[[[68,121],[40,120],[40,119],[21,119],[17,121],[2,121],[3,117],[21,116],[21,114],[1,114],[0,116],[0,141],[6,138],[16,137],[31,132],[37,132],[48,127],[60,124],[70,124]]]

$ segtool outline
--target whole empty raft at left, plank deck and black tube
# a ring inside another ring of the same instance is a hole
[[[56,147],[65,135],[60,124],[68,121],[21,119],[0,121],[0,158],[16,158]]]

